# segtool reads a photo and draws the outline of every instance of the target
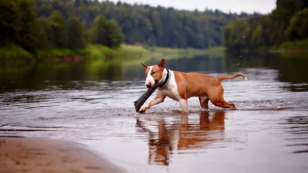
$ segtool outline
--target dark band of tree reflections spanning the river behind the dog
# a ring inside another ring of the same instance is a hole
[[[148,65],[158,64],[153,60]],[[278,70],[278,80],[291,83],[308,83],[306,56],[280,56],[278,54],[226,53],[224,57],[196,56],[187,59],[166,60],[167,68],[184,72],[235,73],[245,68],[271,68]],[[62,89],[78,89],[70,81],[115,81],[145,80],[144,67],[140,64],[125,65],[125,62],[108,63],[104,60],[86,61],[78,64],[37,63],[27,68],[0,67],[0,84],[11,89],[45,89],[53,81],[54,86]],[[257,69],[258,70],[258,69]],[[245,73],[245,72],[244,72]],[[276,74],[275,74],[276,75]],[[15,83],[11,83],[14,81]],[[302,86],[307,90],[307,86]],[[289,87],[292,91],[298,86]]]

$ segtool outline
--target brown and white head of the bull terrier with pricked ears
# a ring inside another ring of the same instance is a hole
[[[147,88],[151,88],[156,83],[160,82],[163,78],[163,71],[166,68],[166,62],[165,59],[162,59],[162,61],[158,65],[153,66],[147,66],[143,63],[141,63],[145,70],[145,86]]]

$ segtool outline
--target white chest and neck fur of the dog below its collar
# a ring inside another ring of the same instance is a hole
[[[179,101],[182,98],[180,97],[180,94],[179,94],[179,91],[178,91],[175,73],[170,69],[169,69],[169,71],[170,71],[170,81],[169,81],[169,83],[164,88],[158,89],[157,94],[158,95],[165,95],[172,100]]]

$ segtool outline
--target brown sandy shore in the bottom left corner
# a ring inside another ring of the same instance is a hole
[[[85,146],[68,141],[0,138],[0,172],[126,172]]]

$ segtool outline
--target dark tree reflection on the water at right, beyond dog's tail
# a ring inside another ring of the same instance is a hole
[[[308,75],[304,75],[307,73],[308,59],[302,55],[227,53],[223,62],[224,70],[228,73],[241,71],[242,68],[265,67],[278,70],[277,78],[281,82],[308,83]]]

